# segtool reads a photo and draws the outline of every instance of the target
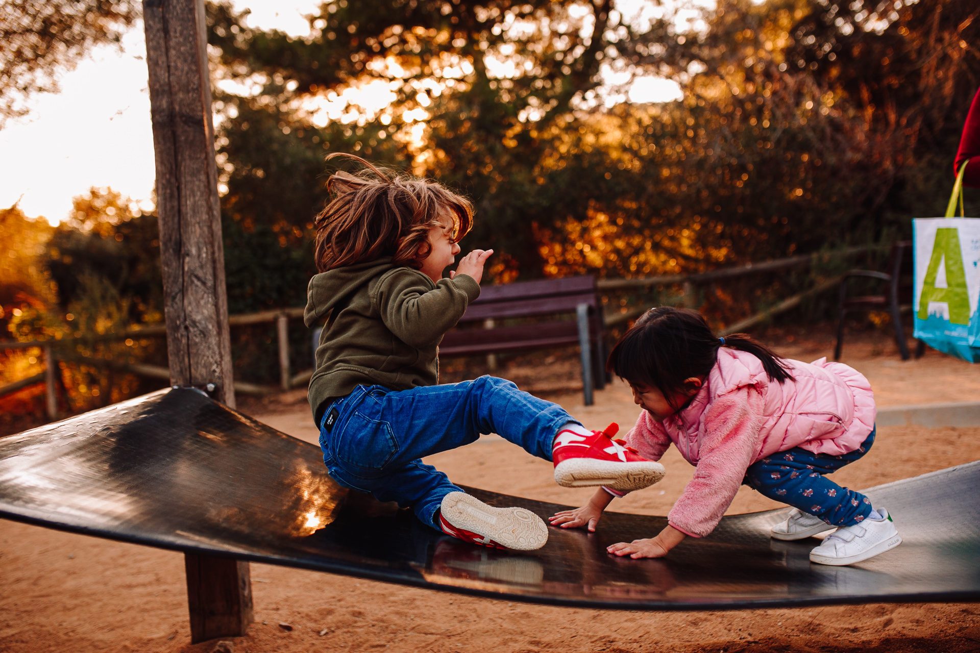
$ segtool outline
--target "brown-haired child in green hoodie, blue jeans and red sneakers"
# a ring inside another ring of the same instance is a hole
[[[317,216],[319,274],[304,314],[310,327],[326,320],[309,395],[330,476],[412,507],[443,533],[523,550],[547,541],[541,518],[489,506],[420,458],[497,433],[553,460],[567,487],[638,490],[659,481],[662,466],[611,440],[613,430],[590,432],[510,381],[438,385],[439,342],[479,297],[493,251],[474,250],[443,278],[472,225],[469,202],[349,157],[366,169],[327,181],[334,199]]]

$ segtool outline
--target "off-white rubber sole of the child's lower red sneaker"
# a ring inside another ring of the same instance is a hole
[[[533,551],[548,541],[544,521],[525,508],[495,508],[465,492],[450,492],[443,497],[441,510],[456,528],[518,551]]]

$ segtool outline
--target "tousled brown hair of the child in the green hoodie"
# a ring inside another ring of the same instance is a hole
[[[360,157],[334,153],[360,163],[355,174],[338,171],[326,181],[333,200],[319,212],[317,269],[320,272],[380,257],[416,269],[432,251],[428,232],[440,226],[447,210],[453,238],[459,241],[473,225],[473,206],[466,198],[434,181],[375,167]]]

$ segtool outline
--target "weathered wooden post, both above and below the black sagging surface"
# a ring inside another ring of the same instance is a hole
[[[234,407],[204,0],[143,0],[171,384]],[[245,634],[247,562],[187,553],[191,641]]]

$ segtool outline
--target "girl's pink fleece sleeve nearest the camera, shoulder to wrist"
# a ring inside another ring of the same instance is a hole
[[[721,521],[756,457],[762,402],[754,386],[745,386],[719,396],[708,407],[694,478],[667,514],[670,526],[704,537]]]

